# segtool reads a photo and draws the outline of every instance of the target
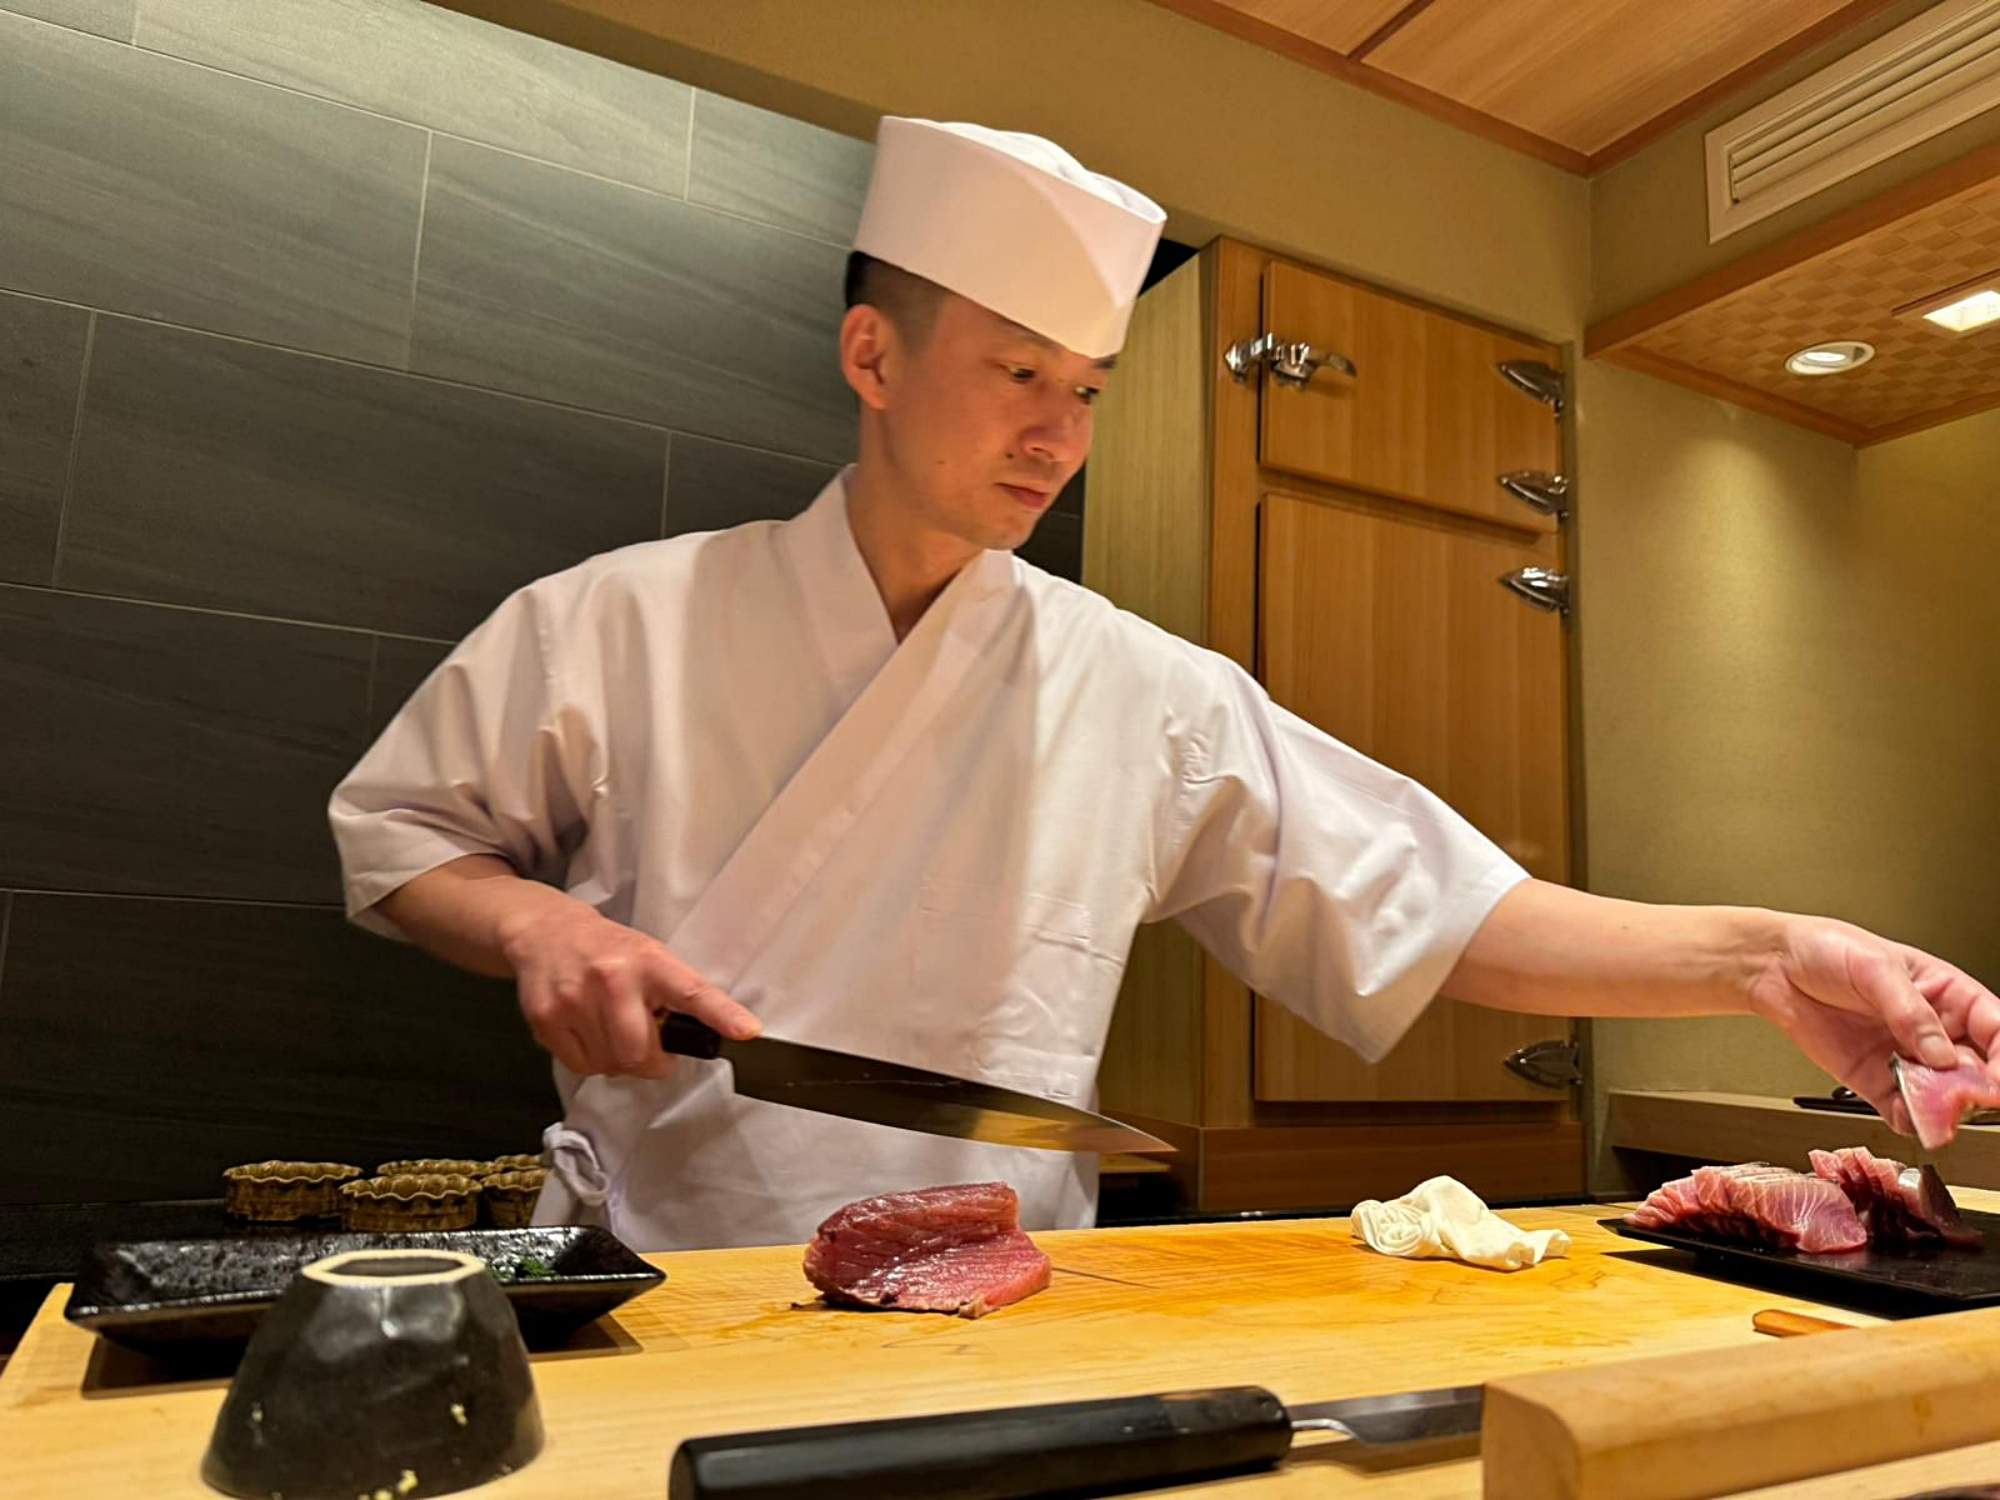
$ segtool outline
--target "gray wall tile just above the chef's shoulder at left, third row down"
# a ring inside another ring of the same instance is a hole
[[[56,584],[458,638],[664,478],[634,422],[100,316]]]

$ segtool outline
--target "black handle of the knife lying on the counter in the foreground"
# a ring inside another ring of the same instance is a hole
[[[670,1500],[1020,1500],[1274,1464],[1292,1446],[1262,1386],[688,1438]]]

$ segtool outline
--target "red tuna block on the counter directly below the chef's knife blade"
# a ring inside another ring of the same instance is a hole
[[[978,1318],[1048,1286],[1048,1256],[1020,1228],[1004,1182],[862,1198],[806,1246],[828,1302]]]

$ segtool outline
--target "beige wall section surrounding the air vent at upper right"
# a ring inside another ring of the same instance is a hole
[[[1932,0],[1898,0],[1862,26],[1794,58],[1778,72],[1760,78],[1748,92],[1704,110],[1638,156],[1594,178],[1590,204],[1592,322],[1624,312],[1750,250],[1832,218],[1898,182],[1964,156],[1976,146],[2000,140],[2000,110],[1988,110],[1942,136],[1932,136],[1886,162],[1876,162],[1800,204],[1762,218],[1720,244],[1708,244],[1702,136],[1882,32],[1894,30],[1930,4]]]

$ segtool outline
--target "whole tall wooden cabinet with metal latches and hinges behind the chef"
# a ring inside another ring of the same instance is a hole
[[[1354,374],[1230,374],[1226,350],[1264,332]],[[1100,400],[1084,578],[1566,880],[1564,618],[1502,586],[1560,574],[1566,538],[1496,482],[1558,474],[1562,428],[1502,360],[1560,352],[1218,240],[1140,300]],[[1338,1206],[1432,1172],[1490,1198],[1562,1196],[1582,1190],[1574,1102],[1504,1060],[1568,1032],[1438,1002],[1366,1066],[1152,928],[1102,1100],[1184,1146],[1202,1208]]]

